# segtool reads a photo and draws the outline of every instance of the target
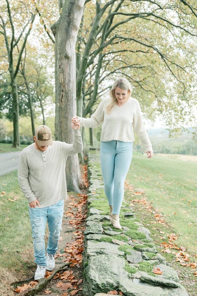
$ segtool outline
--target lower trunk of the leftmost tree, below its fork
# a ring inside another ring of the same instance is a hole
[[[11,76],[11,86],[12,86],[12,96],[13,96],[13,148],[20,148],[20,136],[19,136],[19,99],[18,99],[18,89],[17,81],[14,77],[13,67],[9,67],[9,72]]]

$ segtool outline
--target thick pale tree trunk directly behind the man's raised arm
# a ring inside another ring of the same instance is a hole
[[[59,20],[51,27],[55,35],[56,119],[55,139],[72,143],[71,118],[76,115],[76,37],[85,0],[66,0]],[[78,155],[66,163],[67,188],[80,192],[82,180]]]

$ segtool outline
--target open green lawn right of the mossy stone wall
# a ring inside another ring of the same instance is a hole
[[[136,191],[144,190],[146,199],[180,235],[179,243],[196,254],[197,163],[157,155],[147,159],[134,152],[126,179]]]

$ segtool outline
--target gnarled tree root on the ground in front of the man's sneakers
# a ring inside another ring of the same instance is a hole
[[[46,287],[48,282],[53,279],[53,276],[55,276],[56,273],[65,270],[67,266],[70,264],[72,264],[72,261],[62,265],[60,268],[55,270],[48,279],[39,279],[38,284],[35,287],[33,287],[32,289],[25,290],[24,292],[20,293],[19,296],[32,296],[41,292]]]

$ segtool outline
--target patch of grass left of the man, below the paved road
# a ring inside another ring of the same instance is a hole
[[[17,200],[12,202],[9,198]],[[33,266],[33,252],[29,254],[32,247],[28,202],[14,170],[0,176],[0,270],[20,271],[29,264]]]

